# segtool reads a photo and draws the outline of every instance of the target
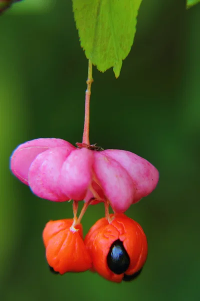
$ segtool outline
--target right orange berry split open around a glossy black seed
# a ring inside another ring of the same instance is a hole
[[[130,281],[147,257],[147,240],[141,226],[124,214],[111,214],[111,223],[98,220],[85,236],[92,269],[114,282]]]

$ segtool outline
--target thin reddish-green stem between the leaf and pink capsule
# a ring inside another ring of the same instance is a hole
[[[88,60],[88,76],[87,76],[87,89],[85,91],[85,110],[84,110],[84,129],[82,135],[82,143],[89,144],[89,101],[91,95],[91,83],[92,79],[92,63]]]

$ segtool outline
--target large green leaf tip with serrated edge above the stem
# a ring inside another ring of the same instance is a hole
[[[80,45],[99,71],[113,67],[119,76],[133,44],[141,1],[72,0]]]

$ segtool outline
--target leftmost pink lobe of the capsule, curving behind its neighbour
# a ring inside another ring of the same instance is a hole
[[[10,158],[12,173],[24,184],[28,185],[28,170],[36,156],[48,148],[66,146],[75,148],[72,144],[62,139],[39,138],[20,144]]]

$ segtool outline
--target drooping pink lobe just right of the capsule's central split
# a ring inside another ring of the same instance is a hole
[[[135,193],[132,179],[126,170],[103,152],[94,153],[93,169],[114,212],[125,212]]]

